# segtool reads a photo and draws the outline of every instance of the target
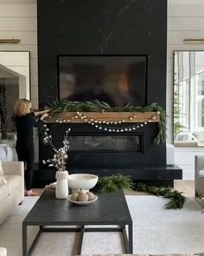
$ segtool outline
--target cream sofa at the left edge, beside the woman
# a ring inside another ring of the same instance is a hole
[[[24,198],[24,164],[22,161],[2,162],[7,185],[0,185],[0,223]]]

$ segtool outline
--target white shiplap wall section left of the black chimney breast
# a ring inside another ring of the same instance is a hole
[[[30,51],[31,100],[33,108],[38,108],[36,0],[0,0],[0,38],[21,39],[17,44],[1,43],[0,50]],[[37,139],[35,161],[38,161]]]

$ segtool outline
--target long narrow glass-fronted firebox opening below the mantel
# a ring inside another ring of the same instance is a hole
[[[70,152],[142,153],[143,135],[71,135]]]

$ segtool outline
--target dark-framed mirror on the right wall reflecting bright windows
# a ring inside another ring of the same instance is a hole
[[[174,144],[204,146],[204,51],[174,51]]]

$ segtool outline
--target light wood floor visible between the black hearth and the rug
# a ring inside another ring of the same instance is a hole
[[[182,192],[184,196],[194,197],[194,181],[175,180],[174,188],[179,192]],[[38,195],[41,195],[43,188],[34,188],[34,191]],[[145,193],[124,189],[124,194],[145,194]]]

